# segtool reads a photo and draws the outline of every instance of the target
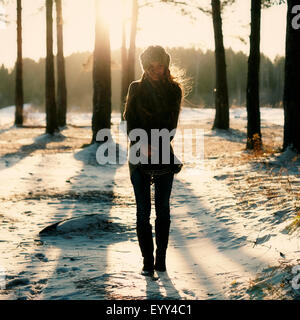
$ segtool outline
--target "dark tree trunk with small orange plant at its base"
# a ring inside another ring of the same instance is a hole
[[[247,79],[247,149],[262,147],[259,111],[261,0],[251,0],[250,54]]]

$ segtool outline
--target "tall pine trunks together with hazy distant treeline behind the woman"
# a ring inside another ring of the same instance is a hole
[[[180,7],[184,15],[192,14],[191,12],[196,10],[212,18],[214,52],[204,53],[201,50],[182,48],[170,49],[173,55],[173,65],[177,67],[180,80],[183,80],[185,102],[191,106],[200,107],[214,105],[216,113],[213,128],[225,130],[230,128],[230,106],[246,105],[247,149],[253,149],[254,144],[255,148],[261,149],[262,147],[260,107],[265,105],[283,107],[285,110],[283,149],[290,146],[299,150],[294,123],[299,113],[294,100],[298,98],[294,98],[297,89],[293,82],[294,70],[297,69],[294,66],[299,64],[296,61],[297,48],[295,45],[299,19],[297,1],[287,1],[286,56],[277,57],[274,62],[262,55],[260,51],[262,10],[280,6],[285,3],[284,0],[251,1],[249,56],[240,52],[235,53],[231,49],[225,50],[224,47],[222,13],[227,7],[234,3],[237,4],[235,0],[214,0],[210,4],[209,2],[200,4],[196,0],[161,2],[173,8]],[[129,85],[139,77],[138,74],[141,74],[136,38],[140,11],[148,5],[154,6],[156,3],[132,1],[129,37],[126,33],[127,19],[123,16],[121,48],[119,52],[113,53],[106,16],[108,3],[95,1],[94,52],[65,58],[62,1],[46,1],[46,58],[44,62],[40,60],[39,63],[35,63],[23,59],[22,1],[17,1],[17,60],[11,73],[3,66],[1,67],[0,88],[2,106],[10,105],[12,96],[14,96],[15,124],[17,126],[23,124],[24,102],[28,101],[41,106],[42,96],[44,96],[46,112],[46,132],[49,134],[59,130],[59,126],[66,125],[68,98],[70,99],[69,104],[74,103],[76,107],[84,108],[84,110],[89,110],[92,102],[92,143],[95,142],[96,133],[100,129],[110,128],[112,110],[120,110],[121,119],[124,120],[123,111]],[[124,9],[125,2],[122,6]],[[53,19],[54,8],[56,21]],[[53,34],[55,24],[56,40]],[[56,58],[53,53],[54,42],[57,46]],[[80,62],[76,65],[75,61]],[[37,72],[32,73],[33,69]],[[45,70],[44,77],[41,72],[43,69]],[[33,74],[35,77],[31,79],[30,75]],[[182,79],[183,75],[184,79]],[[76,79],[79,78],[80,82],[76,82]],[[13,79],[15,79],[14,91],[12,91]],[[43,82],[45,82],[44,90],[41,87]],[[86,90],[82,92],[84,88]],[[78,99],[79,92],[80,98]]]

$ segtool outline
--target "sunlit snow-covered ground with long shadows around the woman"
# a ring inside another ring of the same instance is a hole
[[[229,132],[211,130],[214,110],[183,108],[179,129],[203,130],[204,159],[186,158],[175,176],[168,272],[156,281],[140,275],[127,164],[99,165],[97,146],[81,148],[91,115],[70,113],[71,125],[51,138],[45,116],[26,110],[35,128],[15,128],[14,107],[0,110],[1,299],[299,298],[300,160],[277,151],[283,110],[262,108],[266,152],[253,155],[244,108],[231,110]],[[113,113],[115,135],[119,119]],[[118,143],[126,154],[126,140]]]

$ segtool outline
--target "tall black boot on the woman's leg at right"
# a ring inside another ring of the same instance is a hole
[[[169,241],[170,220],[155,220],[156,257],[154,269],[166,271],[166,252]]]

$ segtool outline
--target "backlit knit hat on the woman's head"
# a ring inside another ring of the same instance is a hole
[[[150,46],[140,55],[140,61],[144,70],[147,70],[153,61],[169,68],[170,55],[161,46]]]

